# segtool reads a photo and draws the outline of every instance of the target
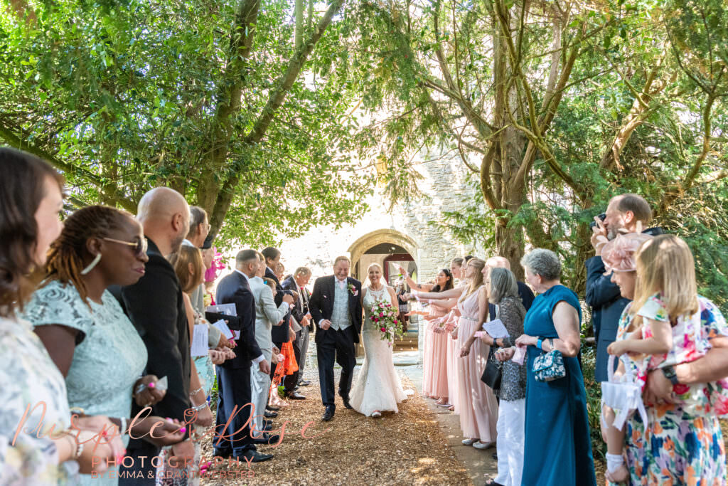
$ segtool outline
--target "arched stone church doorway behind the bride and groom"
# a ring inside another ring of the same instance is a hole
[[[417,280],[417,243],[407,235],[396,230],[378,230],[357,239],[349,246],[352,259],[352,276],[367,283],[367,269],[373,263],[379,264],[384,272],[384,278],[389,286],[401,286],[398,266],[405,268],[414,280]],[[408,287],[405,288],[408,291]],[[395,350],[418,349],[418,330],[420,327],[419,315],[411,316],[405,335],[395,341]],[[363,349],[357,346],[357,355]]]

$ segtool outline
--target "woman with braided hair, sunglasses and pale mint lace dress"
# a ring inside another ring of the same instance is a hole
[[[146,346],[107,288],[138,281],[147,259],[141,225],[128,213],[100,205],[79,209],[52,243],[46,277],[24,310],[66,377],[69,405],[87,415],[110,417],[124,445],[129,441],[132,398],[145,407],[161,400],[165,391],[154,385],[154,375],[140,378]],[[159,417],[137,420],[133,432],[149,434],[158,422],[167,435],[147,439],[157,444],[182,439],[180,426]],[[160,435],[157,429],[155,436]],[[115,469],[109,471],[94,478],[84,474],[82,484],[116,485],[117,475],[111,472]]]

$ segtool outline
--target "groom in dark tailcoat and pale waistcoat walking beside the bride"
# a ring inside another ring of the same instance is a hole
[[[316,356],[321,385],[321,401],[326,410],[323,420],[331,420],[336,405],[333,403],[333,361],[341,365],[339,395],[344,407],[349,405],[349,390],[356,364],[354,343],[359,342],[362,330],[362,284],[349,277],[351,262],[347,256],[338,256],[333,262],[333,275],[317,278],[309,299],[309,311],[316,329]]]

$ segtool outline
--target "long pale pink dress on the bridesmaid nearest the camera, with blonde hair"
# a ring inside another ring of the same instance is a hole
[[[478,291],[459,301],[458,307],[461,314],[457,334],[459,350],[478,327]],[[460,428],[465,437],[480,439],[482,442],[495,442],[498,421],[496,396],[490,387],[480,381],[486,369],[489,350],[490,346],[476,339],[470,347],[470,353],[464,358],[457,358]]]

